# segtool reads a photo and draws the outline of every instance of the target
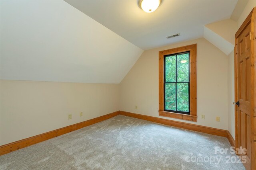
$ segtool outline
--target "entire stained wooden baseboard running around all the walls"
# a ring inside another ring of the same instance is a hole
[[[147,120],[147,121],[152,121],[152,122],[156,122],[156,123],[161,123],[161,124],[164,124],[164,125],[180,127],[180,128],[188,129],[188,130],[192,130],[192,131],[198,131],[198,132],[202,132],[202,133],[208,133],[208,134],[211,134],[211,135],[227,137],[230,144],[232,146],[235,146],[235,141],[234,141],[232,135],[226,130],[216,129],[216,128],[212,128],[212,127],[206,127],[206,126],[201,126],[201,125],[195,125],[195,124],[191,124],[191,123],[173,121],[173,120],[168,120],[168,119],[162,119],[162,118],[159,118],[159,117],[140,115],[140,114],[130,113],[130,112],[126,112],[126,111],[116,111],[116,112],[113,112],[113,113],[110,113],[110,114],[107,114],[107,115],[96,117],[94,119],[90,119],[90,120],[87,120],[87,121],[76,123],[74,125],[70,125],[70,126],[67,126],[67,127],[62,127],[60,129],[56,129],[54,131],[46,132],[46,133],[43,133],[43,134],[40,134],[40,135],[36,135],[36,136],[33,136],[33,137],[22,139],[20,141],[16,141],[16,142],[13,142],[13,143],[2,145],[2,146],[0,146],[0,155],[7,154],[7,153],[13,152],[13,151],[18,150],[18,149],[22,149],[22,148],[28,147],[30,145],[34,145],[36,143],[40,143],[42,141],[46,141],[46,140],[54,138],[54,137],[58,137],[58,136],[63,135],[65,133],[69,133],[69,132],[81,129],[83,127],[92,125],[94,123],[104,121],[106,119],[109,119],[109,118],[114,117],[114,116],[119,115],[119,114],[129,116],[129,117],[135,117],[135,118],[143,119],[143,120]]]

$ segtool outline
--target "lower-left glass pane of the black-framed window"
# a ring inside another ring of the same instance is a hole
[[[176,110],[176,85],[175,83],[165,84],[165,109]]]

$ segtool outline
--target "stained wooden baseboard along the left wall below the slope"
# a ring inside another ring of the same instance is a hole
[[[20,141],[16,141],[16,142],[13,142],[13,143],[2,145],[2,146],[0,146],[0,155],[7,154],[7,153],[13,152],[13,151],[18,150],[18,149],[22,149],[22,148],[28,147],[30,145],[34,145],[36,143],[40,143],[42,141],[46,141],[46,140],[54,138],[54,137],[58,137],[58,136],[63,135],[65,133],[69,133],[69,132],[75,131],[77,129],[81,129],[83,127],[92,125],[94,123],[104,121],[104,120],[109,119],[111,117],[114,117],[118,114],[119,114],[119,111],[116,111],[116,112],[113,112],[113,113],[110,113],[110,114],[107,114],[107,115],[96,117],[94,119],[90,119],[90,120],[87,120],[87,121],[76,123],[74,125],[62,127],[60,129],[56,129],[54,131],[46,132],[46,133],[43,133],[43,134],[40,134],[40,135],[36,135],[36,136],[33,136],[33,137],[22,139]]]

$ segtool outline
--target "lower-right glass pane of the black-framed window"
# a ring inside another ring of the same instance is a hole
[[[189,111],[188,83],[177,83],[177,110]]]

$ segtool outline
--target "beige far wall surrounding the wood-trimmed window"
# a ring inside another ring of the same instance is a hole
[[[158,51],[197,43],[198,125],[228,129],[228,57],[204,38],[144,51],[120,83],[120,110],[158,115]],[[138,109],[135,109],[135,105]],[[201,115],[205,119],[201,119]],[[220,116],[220,122],[216,121]],[[167,117],[161,117],[172,119]],[[180,119],[172,119],[183,121]]]

